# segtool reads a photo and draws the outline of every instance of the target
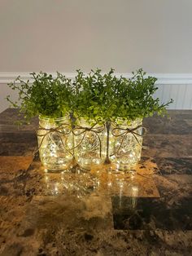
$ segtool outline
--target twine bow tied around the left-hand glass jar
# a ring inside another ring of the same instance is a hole
[[[65,129],[67,127],[70,128],[68,130],[68,132],[63,131],[63,129]],[[40,135],[39,131],[45,131],[45,133],[43,135]],[[52,128],[52,127],[51,128],[45,128],[45,127],[39,126],[39,128],[37,129],[36,132],[37,132],[37,136],[38,137],[42,137],[42,139],[41,139],[41,143],[39,144],[39,146],[38,146],[37,150],[34,152],[34,154],[36,154],[39,151],[39,149],[42,146],[42,143],[43,143],[44,139],[46,138],[46,136],[50,135],[53,132],[55,132],[57,135],[59,135],[59,139],[61,140],[61,143],[63,144],[63,147],[66,149],[66,147],[65,147],[66,143],[63,143],[63,135],[69,135],[71,133],[71,126],[69,124],[65,124],[65,123],[63,123],[63,124],[61,124],[59,126],[56,126],[54,128]],[[65,142],[66,142],[66,140],[65,140]]]

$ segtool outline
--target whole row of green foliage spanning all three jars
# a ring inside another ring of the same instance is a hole
[[[33,82],[24,82],[17,77],[9,86],[19,90],[19,99],[7,100],[15,108],[20,108],[24,117],[41,115],[59,118],[70,114],[71,117],[85,118],[92,123],[104,124],[111,121],[128,123],[136,118],[164,115],[166,106],[159,104],[153,95],[158,88],[155,77],[146,77],[142,68],[133,73],[133,77],[116,77],[114,69],[102,73],[100,69],[85,75],[77,70],[72,81],[61,73],[56,77],[47,73],[31,73]]]

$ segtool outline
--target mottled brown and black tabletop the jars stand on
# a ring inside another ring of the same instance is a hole
[[[144,120],[137,172],[46,173],[0,114],[0,255],[192,255],[192,111]]]

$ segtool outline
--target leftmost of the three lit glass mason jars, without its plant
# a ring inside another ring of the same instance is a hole
[[[67,170],[72,162],[72,132],[68,117],[39,117],[39,156],[46,170]]]

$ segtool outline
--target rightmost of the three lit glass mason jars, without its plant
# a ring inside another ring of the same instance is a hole
[[[125,121],[120,125],[111,123],[111,134],[111,162],[116,165],[117,170],[135,168],[142,154],[142,119],[137,118],[130,125]]]

